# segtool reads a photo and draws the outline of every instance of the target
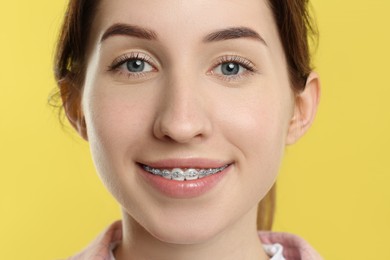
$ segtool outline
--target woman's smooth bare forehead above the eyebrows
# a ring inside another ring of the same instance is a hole
[[[176,44],[227,27],[252,28],[271,44],[278,38],[266,0],[101,0],[93,38],[116,23],[151,29],[160,40]]]

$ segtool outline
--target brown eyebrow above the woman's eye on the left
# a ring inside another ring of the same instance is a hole
[[[110,26],[103,34],[100,42],[103,42],[109,37],[123,35],[132,36],[145,40],[157,40],[157,33],[136,25],[129,25],[123,23],[116,23]]]

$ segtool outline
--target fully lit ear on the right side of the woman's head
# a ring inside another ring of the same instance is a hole
[[[307,78],[305,90],[295,96],[294,114],[286,139],[287,145],[298,141],[313,123],[321,95],[320,85],[318,74],[311,72]]]

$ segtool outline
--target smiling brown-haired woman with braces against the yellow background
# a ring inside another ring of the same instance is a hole
[[[256,227],[270,229],[284,147],[316,114],[306,8],[70,1],[63,106],[123,212],[73,259],[320,259]]]

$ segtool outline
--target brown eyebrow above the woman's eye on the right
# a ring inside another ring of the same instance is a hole
[[[239,38],[252,38],[255,40],[259,40],[265,46],[267,42],[258,34],[255,30],[248,27],[231,27],[227,29],[218,30],[208,34],[203,42],[217,42],[231,39],[239,39]]]

